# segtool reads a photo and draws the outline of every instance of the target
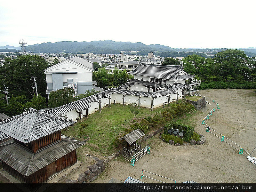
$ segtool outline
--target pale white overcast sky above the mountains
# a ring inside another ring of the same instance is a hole
[[[172,48],[256,47],[255,0],[0,0],[0,46],[130,41]]]

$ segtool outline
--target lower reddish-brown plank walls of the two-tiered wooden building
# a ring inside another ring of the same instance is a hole
[[[7,171],[10,175],[15,177],[22,183],[45,183],[48,181],[48,178],[52,175],[62,171],[65,168],[71,167],[77,161],[76,158],[76,149],[68,153],[67,155],[57,159],[55,162],[45,166],[44,168],[38,170],[37,172],[24,177],[21,173],[17,172],[8,164],[2,161],[3,169]]]

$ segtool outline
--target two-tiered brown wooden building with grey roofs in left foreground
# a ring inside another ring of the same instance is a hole
[[[0,133],[13,139],[0,146],[3,169],[22,183],[45,183],[72,166],[76,148],[85,142],[62,135],[61,129],[74,123],[33,108],[1,122]]]

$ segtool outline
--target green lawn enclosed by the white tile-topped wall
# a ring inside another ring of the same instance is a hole
[[[164,110],[163,107],[158,107],[150,110],[150,108],[140,108],[140,113],[135,117],[135,121],[139,122],[140,119],[149,115],[153,115],[157,112]],[[113,140],[121,134],[125,128],[130,128],[133,122],[133,114],[130,112],[128,106],[123,107],[121,104],[111,104],[111,108],[102,108],[101,113],[99,111],[89,115],[89,118],[83,118],[83,122],[87,123],[86,135],[89,136],[86,147],[92,151],[100,152],[104,156],[108,156],[116,152],[116,148],[113,146]],[[69,130],[63,130],[62,134],[69,137],[76,137],[78,140],[84,140],[80,138],[79,128],[80,122],[69,127]]]

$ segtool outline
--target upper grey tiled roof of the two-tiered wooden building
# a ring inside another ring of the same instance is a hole
[[[29,143],[74,123],[72,120],[29,108],[28,112],[1,122],[0,132],[22,143]]]

